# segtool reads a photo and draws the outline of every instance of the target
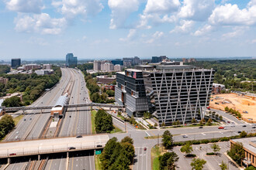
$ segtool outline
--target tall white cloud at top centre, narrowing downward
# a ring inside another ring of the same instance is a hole
[[[125,28],[126,19],[132,12],[139,8],[139,0],[109,0],[109,8],[112,10],[110,29]]]

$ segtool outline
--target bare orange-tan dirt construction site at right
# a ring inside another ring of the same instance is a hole
[[[242,94],[225,93],[213,95],[209,107],[217,110],[225,110],[225,107],[238,110],[244,121],[256,122],[256,99]]]

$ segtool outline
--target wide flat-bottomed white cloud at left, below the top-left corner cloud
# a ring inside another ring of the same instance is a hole
[[[59,34],[67,26],[64,18],[51,19],[47,13],[22,15],[16,19],[16,31],[18,32],[37,32],[41,34]]]

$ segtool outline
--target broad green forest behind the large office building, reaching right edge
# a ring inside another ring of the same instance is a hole
[[[192,63],[204,69],[215,70],[214,83],[224,84],[227,89],[256,92],[256,59],[199,61]],[[237,76],[235,76],[237,75]],[[251,83],[241,83],[250,80]]]

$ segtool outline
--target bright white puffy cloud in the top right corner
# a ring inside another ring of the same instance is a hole
[[[209,17],[209,23],[215,26],[252,26],[256,24],[256,1],[248,3],[247,8],[225,4],[219,5]]]

